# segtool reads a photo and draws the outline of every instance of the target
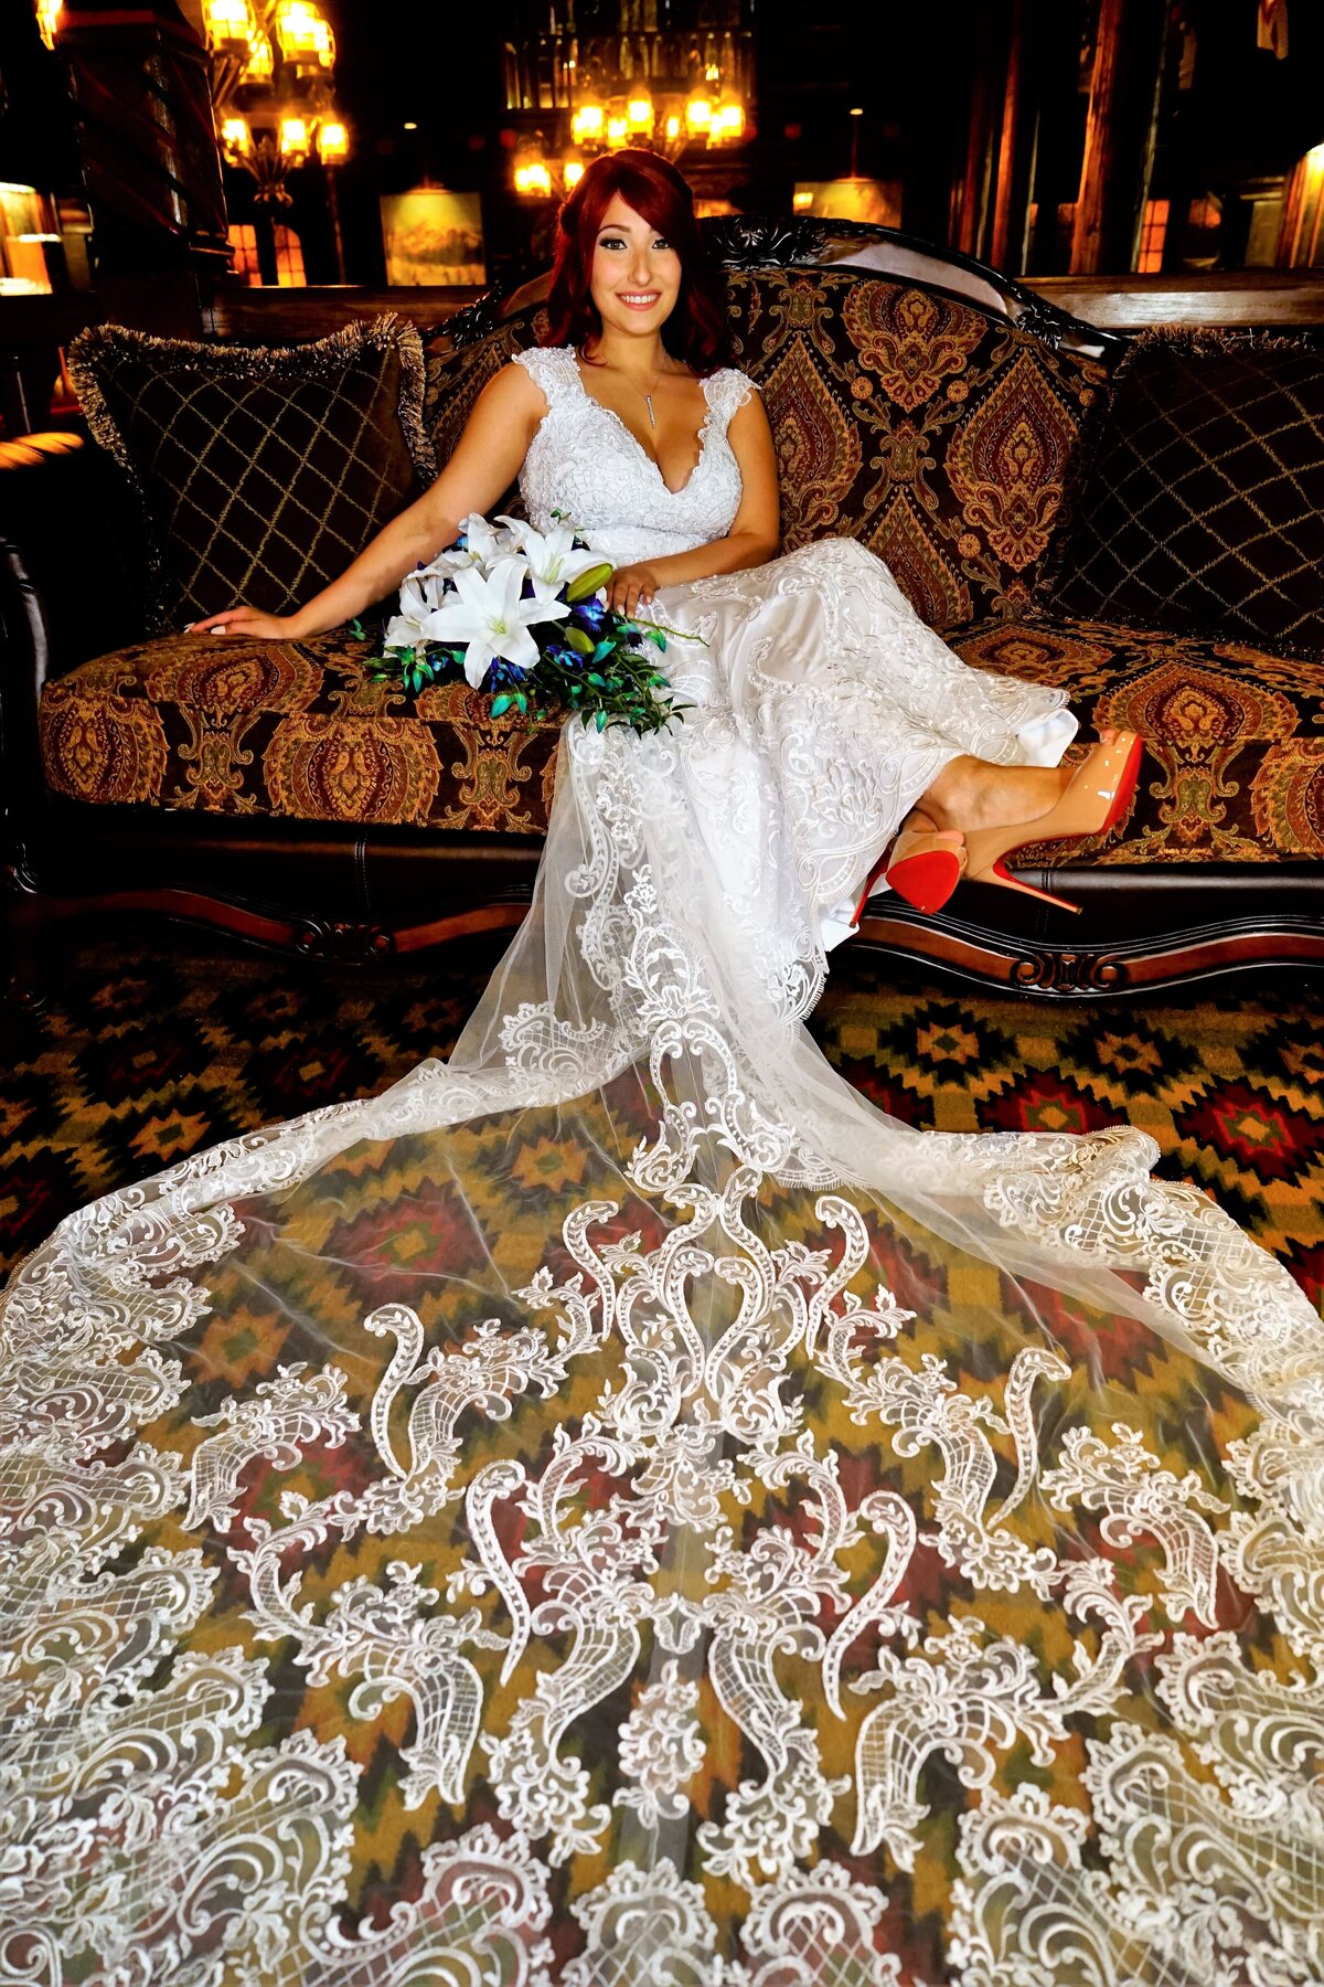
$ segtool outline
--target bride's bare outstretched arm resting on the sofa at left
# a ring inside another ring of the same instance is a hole
[[[522,366],[504,366],[482,387],[451,461],[431,489],[393,517],[339,578],[314,594],[296,614],[260,614],[228,608],[193,622],[195,634],[288,636],[300,640],[353,620],[373,600],[393,592],[407,572],[455,544],[461,519],[486,513],[514,483],[520,463],[546,413],[542,389]]]

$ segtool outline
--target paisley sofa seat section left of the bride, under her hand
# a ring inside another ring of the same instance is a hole
[[[115,650],[46,686],[46,779],[77,801],[542,833],[558,725],[492,719],[466,684],[405,697],[369,652],[347,628]]]

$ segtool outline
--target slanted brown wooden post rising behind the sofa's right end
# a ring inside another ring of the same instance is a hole
[[[1165,42],[1167,0],[1100,0],[1072,274],[1135,268]]]

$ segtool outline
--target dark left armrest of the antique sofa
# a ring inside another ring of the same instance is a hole
[[[0,441],[0,823],[6,860],[46,795],[38,699],[48,678],[143,638],[141,509],[77,431]]]

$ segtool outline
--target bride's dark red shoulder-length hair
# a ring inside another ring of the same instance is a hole
[[[556,217],[546,342],[582,348],[601,336],[590,278],[601,217],[617,193],[681,258],[681,290],[661,328],[663,346],[691,372],[715,372],[727,356],[723,272],[699,240],[689,181],[655,151],[607,151],[594,159]]]

